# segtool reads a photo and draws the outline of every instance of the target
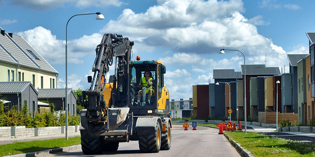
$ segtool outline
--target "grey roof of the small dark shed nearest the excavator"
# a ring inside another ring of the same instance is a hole
[[[53,88],[53,89],[50,89],[50,88],[39,89],[39,88],[37,88],[37,92],[38,92],[38,98],[65,98],[65,88]],[[70,92],[77,99],[72,88],[68,88],[68,95]]]

